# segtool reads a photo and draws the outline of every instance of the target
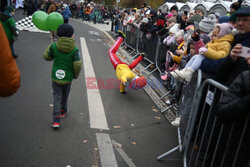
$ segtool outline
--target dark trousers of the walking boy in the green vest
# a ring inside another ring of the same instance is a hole
[[[71,83],[67,85],[58,85],[57,83],[52,81],[53,100],[54,100],[54,109],[53,109],[54,117],[60,116],[60,110],[63,110],[64,113],[67,112],[67,102],[68,102],[68,96],[70,92],[70,86],[71,86]]]

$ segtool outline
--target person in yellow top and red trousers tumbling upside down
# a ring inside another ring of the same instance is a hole
[[[147,84],[147,81],[144,77],[136,76],[132,71],[132,69],[135,68],[141,60],[143,60],[145,54],[142,53],[137,59],[135,59],[129,65],[122,62],[117,57],[116,52],[118,51],[118,48],[120,47],[123,39],[125,38],[125,35],[122,31],[119,30],[117,31],[117,33],[119,37],[117,38],[115,44],[109,50],[109,58],[112,65],[114,66],[117,78],[121,81],[120,93],[126,94],[125,91],[126,87],[137,90],[137,89],[142,89]]]

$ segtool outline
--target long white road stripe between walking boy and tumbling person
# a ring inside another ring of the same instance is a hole
[[[89,51],[86,45],[85,38],[81,37],[80,41],[81,41],[82,58],[83,58],[85,82],[86,82],[87,78],[93,78],[93,77],[96,78],[96,76],[95,76],[94,68],[93,68],[92,61],[89,55]],[[86,85],[87,84],[88,83],[86,82]],[[88,96],[88,105],[89,105],[90,128],[108,130],[109,128],[108,128],[107,119],[106,119],[105,111],[103,108],[102,98],[101,98],[99,89],[87,88],[87,96]]]

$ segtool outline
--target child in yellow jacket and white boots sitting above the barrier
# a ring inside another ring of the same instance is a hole
[[[229,23],[218,24],[213,30],[211,42],[206,47],[200,48],[199,55],[193,56],[183,70],[171,72],[173,77],[182,82],[185,80],[190,82],[194,71],[200,68],[202,60],[205,58],[219,60],[226,57],[231,49],[231,42],[234,40],[232,29]]]

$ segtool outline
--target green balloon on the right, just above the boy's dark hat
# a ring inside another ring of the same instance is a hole
[[[61,24],[63,24],[63,17],[60,13],[53,12],[49,14],[47,18],[49,30],[56,31]]]

